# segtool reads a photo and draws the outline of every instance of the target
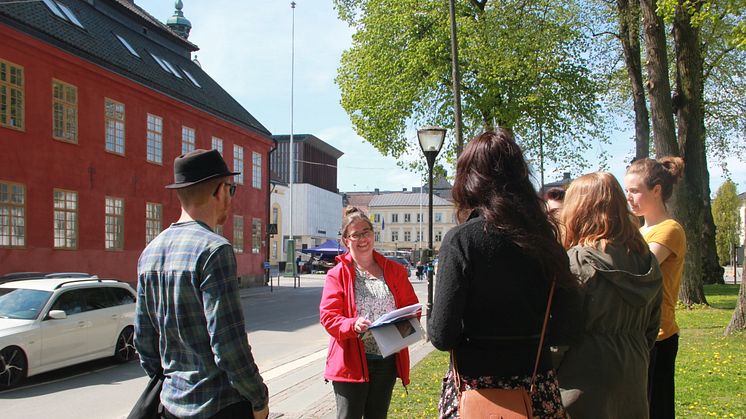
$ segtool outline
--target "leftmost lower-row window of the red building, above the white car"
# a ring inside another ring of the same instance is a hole
[[[0,181],[0,247],[26,245],[26,187]]]

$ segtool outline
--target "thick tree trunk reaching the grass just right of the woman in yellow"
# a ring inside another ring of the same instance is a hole
[[[703,182],[709,179],[705,155],[704,102],[702,98],[702,54],[699,30],[692,26],[690,15],[679,5],[673,22],[676,47],[676,86],[678,142],[684,158],[683,187],[674,209],[687,233],[687,254],[679,300],[684,304],[707,304],[703,288],[701,242],[705,224],[705,208],[709,208],[709,194],[704,196]]]

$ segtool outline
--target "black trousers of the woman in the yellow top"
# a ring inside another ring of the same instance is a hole
[[[679,352],[679,335],[655,342],[650,351],[648,366],[648,403],[650,419],[674,419],[674,373],[676,353]]]

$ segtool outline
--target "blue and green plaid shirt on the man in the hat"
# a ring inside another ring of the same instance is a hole
[[[149,376],[166,377],[163,406],[183,418],[244,400],[264,408],[267,387],[246,337],[230,243],[201,222],[172,224],[137,270],[135,347]]]

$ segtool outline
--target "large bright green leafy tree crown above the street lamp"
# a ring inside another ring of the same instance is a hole
[[[383,154],[416,148],[407,128],[454,126],[448,2],[335,0],[357,32],[337,84],[357,133]],[[573,2],[457,2],[464,138],[495,126],[569,165],[599,134],[599,84]],[[451,144],[453,147],[453,144]]]

